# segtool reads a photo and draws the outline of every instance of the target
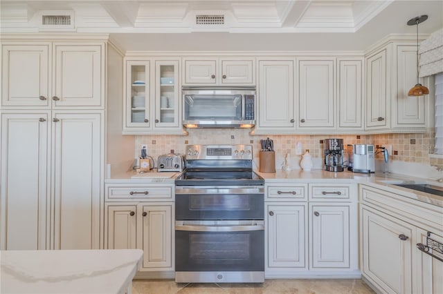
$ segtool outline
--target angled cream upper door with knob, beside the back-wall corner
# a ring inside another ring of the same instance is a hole
[[[388,128],[390,75],[386,63],[387,50],[366,59],[366,128]]]

